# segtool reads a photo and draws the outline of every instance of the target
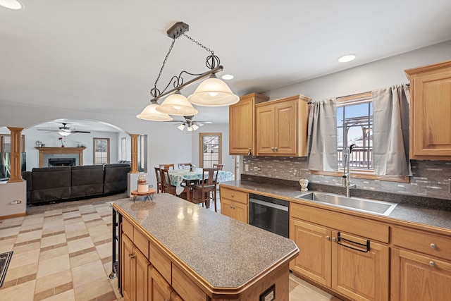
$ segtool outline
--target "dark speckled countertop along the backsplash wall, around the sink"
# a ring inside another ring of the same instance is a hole
[[[230,186],[233,188],[241,188],[248,190],[248,192],[269,193],[271,195],[279,195],[281,197],[290,198],[291,202],[314,202],[308,199],[299,199],[299,195],[305,192],[299,188],[285,187],[283,185],[271,185],[268,183],[255,183],[251,181],[244,180],[233,180],[228,182],[223,182],[221,185]],[[313,190],[309,190],[312,192]],[[379,199],[383,201],[383,199]],[[318,204],[317,202],[314,202]],[[329,205],[324,205],[329,206]],[[344,209],[346,211],[352,211],[352,209]],[[356,212],[356,211],[354,211]],[[381,216],[378,214],[373,214],[374,216]],[[434,226],[438,228],[443,228],[451,230],[451,211],[445,211],[440,209],[428,209],[424,207],[419,207],[413,204],[397,204],[395,209],[388,215],[383,216],[384,218],[407,221],[410,223],[418,223],[419,225]]]

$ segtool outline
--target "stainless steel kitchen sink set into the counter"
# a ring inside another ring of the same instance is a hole
[[[396,203],[376,201],[375,199],[343,197],[342,195],[324,192],[309,192],[305,195],[299,195],[299,198],[385,216],[388,216],[397,205]]]

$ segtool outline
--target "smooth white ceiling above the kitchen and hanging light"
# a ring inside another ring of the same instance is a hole
[[[235,75],[238,95],[451,39],[450,0],[20,1],[20,11],[0,7],[0,103],[130,116],[149,104],[178,21],[219,56],[220,75]],[[357,59],[337,62],[349,53]],[[177,39],[159,87],[205,72],[208,54]],[[196,120],[228,123],[226,108],[197,109]]]

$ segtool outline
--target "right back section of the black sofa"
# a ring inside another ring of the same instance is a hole
[[[104,166],[104,194],[124,192],[128,188],[128,173],[130,164],[105,164]]]

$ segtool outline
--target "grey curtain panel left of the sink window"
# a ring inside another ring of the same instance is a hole
[[[335,98],[309,104],[307,156],[310,170],[338,171]]]

